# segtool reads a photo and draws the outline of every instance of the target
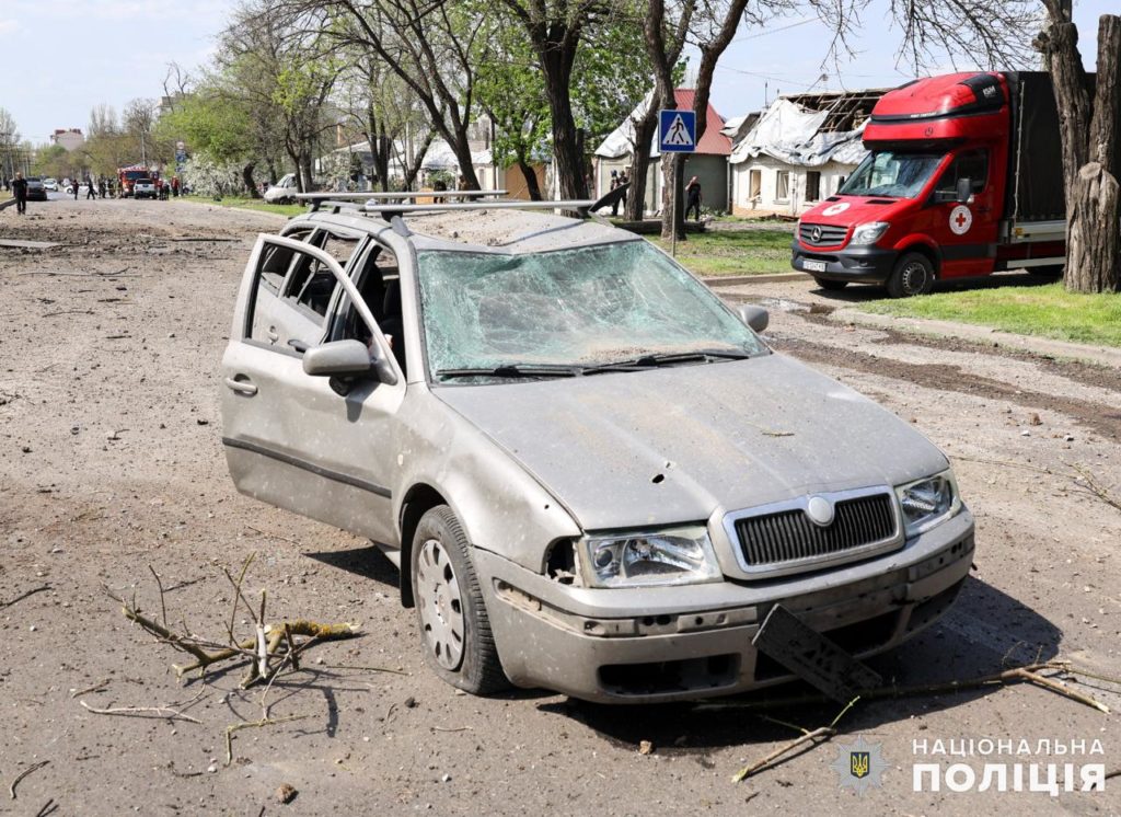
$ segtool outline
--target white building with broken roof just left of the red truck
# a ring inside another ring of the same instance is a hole
[[[883,93],[780,96],[750,114],[758,118],[729,157],[732,212],[797,216],[835,194],[868,152],[864,124]]]

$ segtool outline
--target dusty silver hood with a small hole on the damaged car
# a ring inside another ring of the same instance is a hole
[[[717,508],[899,484],[946,467],[895,415],[777,354],[434,393],[585,530],[701,521]]]

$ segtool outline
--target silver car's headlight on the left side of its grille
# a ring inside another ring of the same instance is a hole
[[[720,582],[720,565],[704,526],[587,536],[581,567],[590,587]]]

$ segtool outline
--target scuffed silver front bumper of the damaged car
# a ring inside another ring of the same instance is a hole
[[[973,558],[969,510],[902,549],[771,582],[590,589],[475,549],[502,668],[520,687],[584,700],[651,703],[790,680],[751,639],[781,603],[856,657],[891,649],[938,619]]]

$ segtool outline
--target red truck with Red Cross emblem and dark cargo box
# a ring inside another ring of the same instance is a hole
[[[1064,261],[1065,207],[1050,80],[965,73],[884,94],[870,151],[798,223],[791,264],[826,289],[874,284],[893,297],[936,279]]]

